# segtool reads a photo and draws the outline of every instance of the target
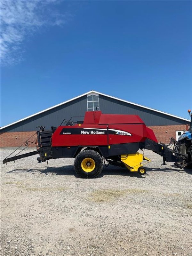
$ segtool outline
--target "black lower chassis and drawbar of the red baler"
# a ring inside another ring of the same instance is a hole
[[[146,139],[145,142],[138,143],[124,143],[114,144],[107,146],[73,146],[73,147],[42,147],[39,150],[39,162],[46,161],[48,159],[57,158],[75,158],[83,148],[88,148],[97,151],[108,162],[117,163],[119,165],[120,155],[135,154],[139,149],[152,150],[156,154],[163,157],[163,162],[182,162],[183,155],[181,157],[175,156],[173,151],[167,148],[164,144],[156,143],[153,140]],[[111,161],[111,160],[112,161]]]

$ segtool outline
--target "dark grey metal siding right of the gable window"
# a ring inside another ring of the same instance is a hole
[[[132,104],[99,96],[100,110],[104,114],[129,114],[138,115],[147,126],[186,124],[186,121],[176,117],[167,116],[150,109],[134,106]]]

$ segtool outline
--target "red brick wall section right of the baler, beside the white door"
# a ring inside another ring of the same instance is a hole
[[[185,124],[179,125],[163,125],[163,126],[148,126],[155,133],[158,142],[165,144],[170,142],[170,138],[176,139],[176,131],[185,131]]]

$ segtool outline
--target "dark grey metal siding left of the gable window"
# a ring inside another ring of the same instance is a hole
[[[50,130],[51,126],[59,126],[64,118],[69,120],[72,116],[84,116],[85,111],[87,111],[87,97],[83,96],[77,100],[28,118],[20,123],[6,127],[0,132],[36,131],[38,130],[36,127],[41,125],[45,126],[46,130]],[[83,120],[83,118],[74,118],[73,120]]]

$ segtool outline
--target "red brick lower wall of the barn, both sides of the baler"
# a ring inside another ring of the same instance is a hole
[[[156,135],[158,142],[169,143],[171,137],[176,139],[176,131],[185,130],[185,125],[164,125],[164,126],[149,126]],[[0,147],[19,147],[22,143],[35,134],[33,132],[4,132],[0,133]],[[34,141],[35,140],[35,141]],[[35,134],[30,141],[37,142],[37,135]],[[30,144],[30,143],[29,143]],[[25,144],[24,144],[25,146]],[[29,145],[35,147],[35,144]]]

